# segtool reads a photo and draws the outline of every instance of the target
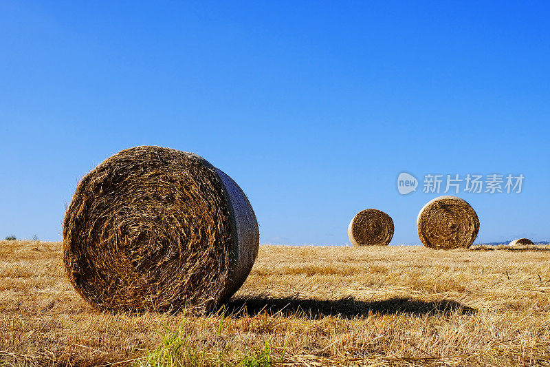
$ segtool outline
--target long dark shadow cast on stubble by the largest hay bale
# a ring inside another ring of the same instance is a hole
[[[344,318],[377,313],[381,315],[434,315],[458,312],[462,315],[474,314],[474,308],[459,302],[441,300],[424,302],[406,297],[393,297],[381,301],[360,301],[353,297],[340,300],[303,300],[295,297],[236,297],[225,305],[225,311],[235,316],[257,315],[259,313],[278,314],[284,317],[300,315],[308,318],[340,315]]]

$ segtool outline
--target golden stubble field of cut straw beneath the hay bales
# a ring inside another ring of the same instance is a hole
[[[2,241],[0,360],[550,366],[548,247],[490,249],[261,246],[224,312],[127,315],[77,295],[61,243]]]

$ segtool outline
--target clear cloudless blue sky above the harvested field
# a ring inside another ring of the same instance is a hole
[[[477,242],[550,240],[548,1],[1,1],[0,237],[61,240],[121,149],[232,176],[261,243],[347,244],[366,208],[419,243],[397,175],[523,174],[461,193]],[[422,185],[422,182],[420,182]]]

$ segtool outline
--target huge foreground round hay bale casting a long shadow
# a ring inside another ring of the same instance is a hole
[[[78,184],[63,222],[69,280],[92,306],[210,308],[245,281],[259,245],[250,202],[205,159],[134,147]]]

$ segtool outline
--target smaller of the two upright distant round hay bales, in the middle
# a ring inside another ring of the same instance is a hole
[[[387,246],[393,237],[393,220],[384,211],[362,210],[349,222],[348,237],[353,246]]]

